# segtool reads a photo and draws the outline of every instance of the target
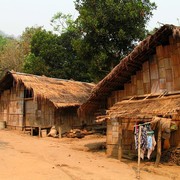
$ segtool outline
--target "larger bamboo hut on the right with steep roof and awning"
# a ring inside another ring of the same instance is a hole
[[[178,146],[179,67],[180,27],[164,25],[140,42],[94,87],[88,101],[80,106],[78,112],[84,120],[106,121],[107,155],[121,158],[137,153],[134,139],[136,125],[151,124],[157,118],[159,121],[167,120],[165,122],[171,120],[168,148]],[[162,121],[159,127],[162,127]]]

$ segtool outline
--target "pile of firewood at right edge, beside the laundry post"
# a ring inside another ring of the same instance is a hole
[[[170,148],[162,153],[163,162],[172,163],[180,166],[180,146]]]

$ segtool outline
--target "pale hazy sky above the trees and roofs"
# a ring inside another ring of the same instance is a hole
[[[149,30],[162,24],[180,26],[180,0],[151,1],[156,3],[157,10],[147,25]],[[0,0],[0,30],[14,36],[32,26],[52,30],[50,20],[57,12],[71,14],[74,19],[78,16],[74,0]]]

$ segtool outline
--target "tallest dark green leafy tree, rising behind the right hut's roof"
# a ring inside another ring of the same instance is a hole
[[[146,35],[155,3],[150,0],[76,0],[82,38],[74,42],[80,59],[89,62],[99,81]]]

